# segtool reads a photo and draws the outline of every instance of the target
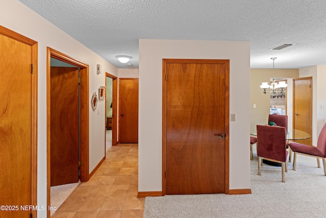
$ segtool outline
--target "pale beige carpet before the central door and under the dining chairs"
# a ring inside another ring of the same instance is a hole
[[[281,167],[263,164],[258,176],[257,156],[250,163],[251,195],[146,197],[144,218],[326,217],[326,176],[321,160],[317,168],[316,158],[298,155],[296,171],[288,163],[285,183],[281,182]]]

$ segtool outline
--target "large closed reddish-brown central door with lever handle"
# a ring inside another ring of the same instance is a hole
[[[166,193],[224,193],[229,61],[164,61]]]

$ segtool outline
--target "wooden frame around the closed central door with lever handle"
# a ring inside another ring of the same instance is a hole
[[[210,59],[162,59],[162,196],[166,195],[166,158],[167,158],[167,63],[217,63],[216,61],[225,60],[210,60]],[[230,83],[230,70],[226,68],[225,75],[225,187],[224,191],[226,194],[230,193],[229,190],[229,83]]]

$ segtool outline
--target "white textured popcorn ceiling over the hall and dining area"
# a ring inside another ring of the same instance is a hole
[[[19,1],[118,68],[138,67],[139,39],[250,41],[251,68],[326,64],[324,0]]]

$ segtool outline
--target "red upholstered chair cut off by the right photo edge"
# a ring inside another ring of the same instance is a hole
[[[307,146],[306,144],[300,144],[296,142],[289,143],[291,150],[294,152],[293,158],[293,171],[295,171],[296,154],[307,155],[317,158],[317,164],[320,168],[319,158],[322,158],[324,166],[324,174],[326,176],[326,125],[321,129],[318,136],[317,147]]]

